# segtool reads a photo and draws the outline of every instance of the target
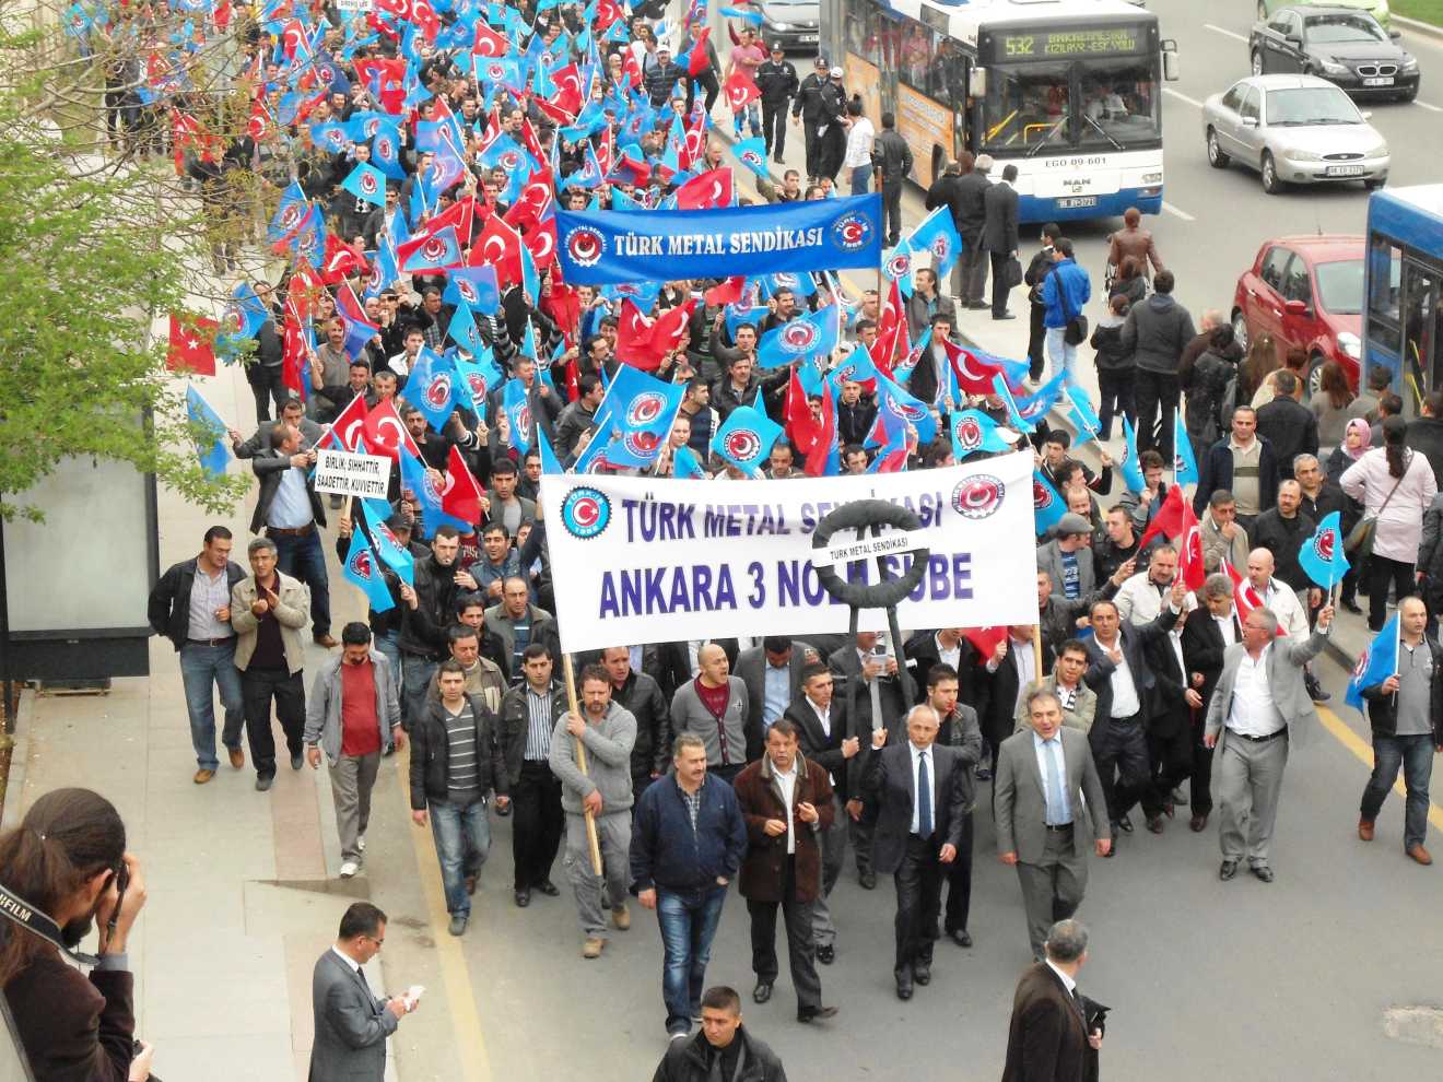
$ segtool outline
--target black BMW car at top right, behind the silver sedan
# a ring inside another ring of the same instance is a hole
[[[1418,62],[1367,12],[1352,7],[1280,7],[1248,35],[1253,74],[1320,75],[1349,94],[1413,101]]]

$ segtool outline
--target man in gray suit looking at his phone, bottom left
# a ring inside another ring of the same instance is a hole
[[[385,942],[385,913],[355,902],[341,918],[335,945],[316,961],[310,1003],[316,1043],[310,1046],[310,1082],[351,1082],[385,1076],[385,1039],[416,1010],[408,995],[371,993],[361,967]]]

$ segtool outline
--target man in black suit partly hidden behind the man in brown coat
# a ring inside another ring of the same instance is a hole
[[[833,817],[823,831],[821,890],[812,902],[812,941],[817,961],[831,965],[837,956],[837,926],[831,920],[827,899],[837,886],[847,857],[847,824],[861,814],[860,770],[861,740],[851,731],[847,703],[833,694],[831,669],[821,662],[802,669],[802,691],[782,716],[797,726],[797,746],[801,755],[831,776]]]

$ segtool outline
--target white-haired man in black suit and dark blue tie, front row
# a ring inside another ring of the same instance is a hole
[[[892,873],[898,892],[898,998],[912,998],[912,982],[932,980],[932,944],[942,905],[942,873],[957,860],[962,825],[973,806],[973,780],[955,747],[937,743],[939,721],[929,705],[906,716],[906,743],[886,747],[887,733],[872,734],[863,792],[864,815],[876,824],[873,866]]]

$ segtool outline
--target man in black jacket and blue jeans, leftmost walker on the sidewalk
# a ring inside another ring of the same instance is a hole
[[[206,529],[201,554],[167,568],[150,591],[146,607],[152,630],[170,639],[180,655],[196,785],[215,778],[215,767],[221,765],[215,757],[216,690],[225,707],[221,743],[229,750],[231,766],[237,770],[245,766],[241,750],[245,703],[241,674],[235,668],[235,629],[231,628],[231,589],[245,571],[231,563],[232,544],[225,527]]]

